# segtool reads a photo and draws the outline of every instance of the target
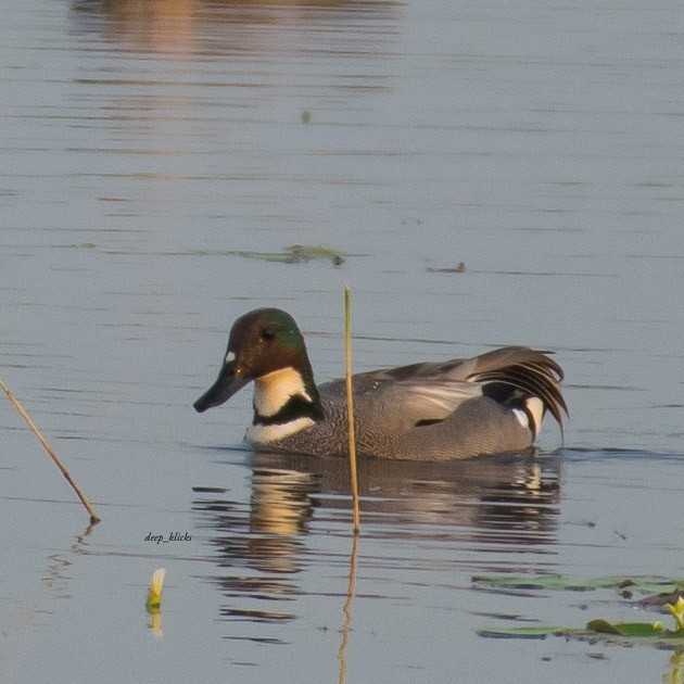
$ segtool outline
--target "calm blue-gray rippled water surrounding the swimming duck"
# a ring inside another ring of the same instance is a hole
[[[646,647],[482,638],[657,616],[472,578],[684,573],[677,3],[3,10],[0,367],[103,518],[0,396],[3,682],[676,674]],[[236,254],[292,244],[346,257]],[[343,463],[231,448],[246,391],[191,408],[256,306],[340,376],[344,283],[358,370],[554,350],[565,448],[549,427],[536,459],[363,464],[353,557]],[[170,532],[191,539],[144,541]]]

